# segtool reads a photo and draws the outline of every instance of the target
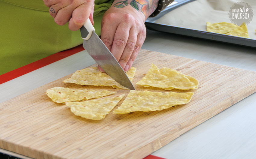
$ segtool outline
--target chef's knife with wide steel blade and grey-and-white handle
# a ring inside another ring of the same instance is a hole
[[[116,58],[108,50],[105,44],[95,33],[95,29],[89,19],[80,28],[84,49],[92,56],[97,64],[115,81],[126,88],[135,90],[132,82],[117,62]]]

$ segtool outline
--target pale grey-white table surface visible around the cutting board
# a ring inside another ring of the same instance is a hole
[[[147,30],[142,49],[256,71],[256,49]],[[0,85],[0,103],[95,61],[81,51]],[[256,93],[181,135],[152,155],[167,159],[256,158]]]

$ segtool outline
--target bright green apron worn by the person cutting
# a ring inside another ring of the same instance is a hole
[[[95,32],[114,0],[95,0]],[[80,31],[58,26],[43,0],[0,0],[0,75],[83,43]]]

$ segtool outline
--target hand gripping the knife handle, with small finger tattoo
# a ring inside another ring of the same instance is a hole
[[[80,29],[89,18],[93,25],[94,0],[44,0],[58,25],[69,21],[70,30]]]

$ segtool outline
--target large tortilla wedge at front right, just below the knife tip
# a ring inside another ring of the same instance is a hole
[[[114,110],[114,114],[126,114],[130,112],[164,110],[173,106],[190,102],[193,92],[151,92],[130,90],[122,105]]]

